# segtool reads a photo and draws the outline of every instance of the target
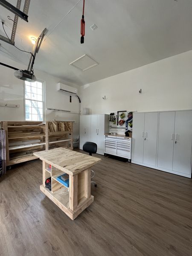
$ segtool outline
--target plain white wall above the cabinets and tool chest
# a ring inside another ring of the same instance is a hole
[[[80,96],[90,113],[192,109],[192,51],[86,84]]]

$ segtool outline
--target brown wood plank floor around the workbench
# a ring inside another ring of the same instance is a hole
[[[0,178],[0,256],[192,256],[192,180],[97,156],[75,221],[41,193],[40,160]]]

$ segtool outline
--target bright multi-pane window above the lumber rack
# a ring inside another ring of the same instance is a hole
[[[25,120],[44,120],[44,82],[25,81]]]

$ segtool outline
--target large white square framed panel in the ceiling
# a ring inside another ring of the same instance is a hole
[[[90,69],[91,67],[97,66],[99,63],[94,61],[92,58],[87,56],[86,54],[71,62],[70,65],[78,68],[79,70],[85,71]]]

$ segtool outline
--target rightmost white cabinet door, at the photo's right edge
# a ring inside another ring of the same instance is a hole
[[[175,112],[173,171],[191,173],[192,111]]]

